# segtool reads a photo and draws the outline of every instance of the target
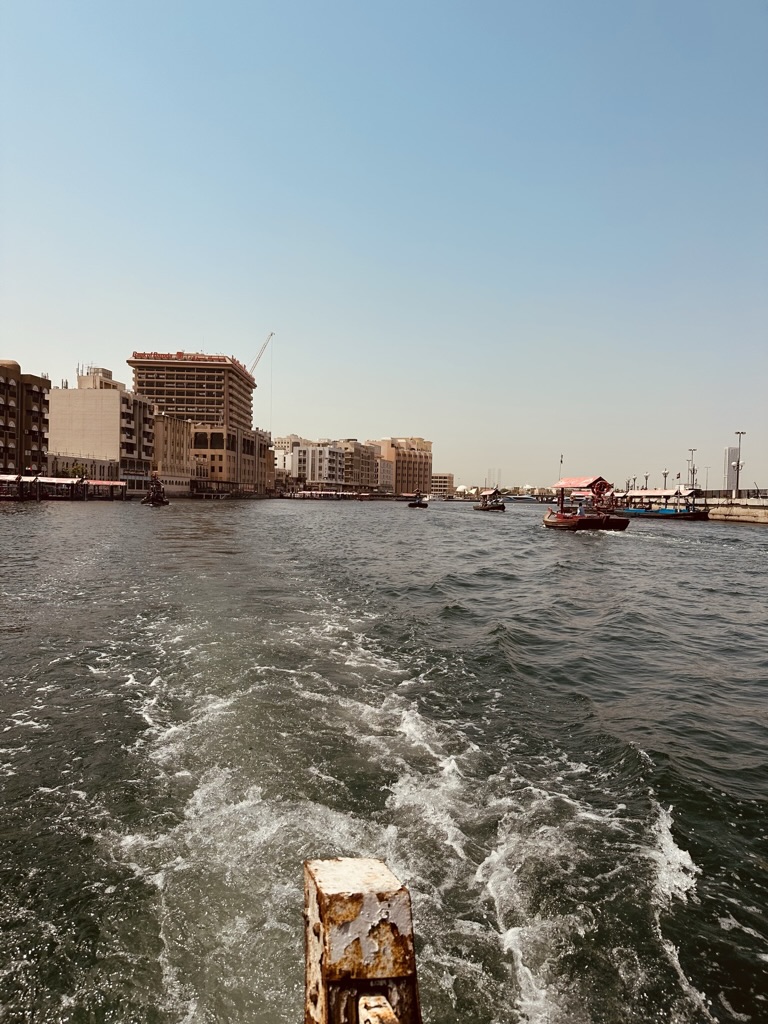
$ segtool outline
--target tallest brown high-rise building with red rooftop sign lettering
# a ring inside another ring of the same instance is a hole
[[[274,487],[267,431],[253,429],[256,381],[239,359],[203,352],[134,352],[134,387],[166,415],[190,423],[195,494],[260,494]]]

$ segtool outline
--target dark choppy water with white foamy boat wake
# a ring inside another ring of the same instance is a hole
[[[425,1019],[768,1020],[768,531],[0,508],[0,1020],[302,1019],[302,860]]]

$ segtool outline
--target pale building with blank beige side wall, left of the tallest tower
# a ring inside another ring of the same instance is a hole
[[[77,388],[53,388],[48,396],[48,450],[61,472],[93,463],[128,483],[128,494],[150,485],[155,457],[155,409],[128,391],[102,367],[78,375]],[[114,467],[114,468],[113,468]]]

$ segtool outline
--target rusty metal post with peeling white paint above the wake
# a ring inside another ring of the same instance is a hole
[[[304,919],[305,1024],[421,1024],[411,896],[386,864],[305,861]]]

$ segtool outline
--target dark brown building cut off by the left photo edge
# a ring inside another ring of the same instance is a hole
[[[47,471],[49,392],[47,377],[23,374],[13,359],[0,359],[0,472]]]

